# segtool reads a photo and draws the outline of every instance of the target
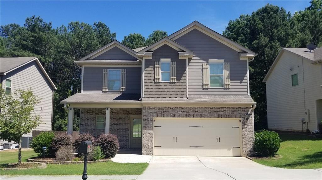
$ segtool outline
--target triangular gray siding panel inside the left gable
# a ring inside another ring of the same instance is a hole
[[[113,47],[109,51],[100,54],[93,58],[93,60],[137,60],[137,58],[121,50],[118,47]]]

